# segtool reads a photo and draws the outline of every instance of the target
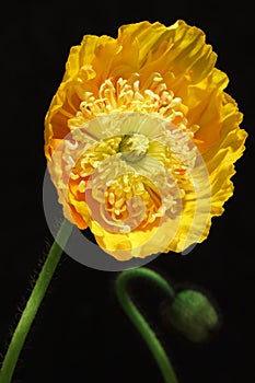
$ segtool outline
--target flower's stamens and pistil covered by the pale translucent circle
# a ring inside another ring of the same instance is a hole
[[[102,115],[71,137],[76,144],[67,142],[63,156],[71,167],[69,199],[106,231],[159,225],[165,217],[177,217],[186,190],[190,197],[196,152],[189,137],[166,119]]]

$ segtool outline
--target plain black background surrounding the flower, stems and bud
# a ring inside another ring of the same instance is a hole
[[[177,19],[204,30],[229,74],[230,93],[250,137],[232,178],[234,196],[213,219],[206,242],[187,256],[161,255],[148,267],[175,286],[205,289],[222,325],[205,345],[169,334],[153,287],[140,305],[170,355],[179,383],[254,382],[254,10],[250,1],[9,2],[1,30],[0,349],[10,335],[38,259],[53,237],[42,204],[46,162],[44,117],[72,45],[84,34],[113,37],[119,25]],[[119,309],[116,272],[86,268],[63,255],[22,352],[13,382],[163,382],[150,352]],[[143,291],[143,292],[142,292]],[[144,292],[146,291],[146,292]]]

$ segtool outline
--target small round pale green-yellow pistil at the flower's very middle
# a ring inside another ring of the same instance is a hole
[[[119,144],[119,151],[123,153],[124,160],[138,162],[146,155],[149,143],[149,139],[144,135],[125,135]]]

